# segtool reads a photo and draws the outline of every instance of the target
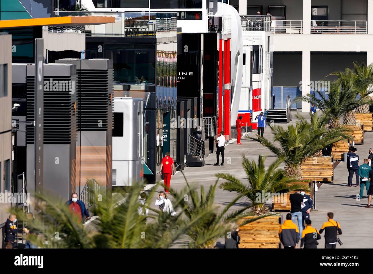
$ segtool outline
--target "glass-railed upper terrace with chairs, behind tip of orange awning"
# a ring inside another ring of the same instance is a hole
[[[156,33],[176,31],[175,16],[138,12],[59,12],[57,16],[113,16],[115,23],[85,27],[86,36],[155,37]]]

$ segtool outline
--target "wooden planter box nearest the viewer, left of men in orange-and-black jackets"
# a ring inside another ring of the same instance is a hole
[[[255,218],[245,217],[244,219]],[[282,216],[268,216],[239,227],[239,248],[281,248]]]

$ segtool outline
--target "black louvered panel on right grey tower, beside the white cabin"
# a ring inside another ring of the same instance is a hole
[[[113,127],[113,70],[77,70],[78,130],[106,131]]]

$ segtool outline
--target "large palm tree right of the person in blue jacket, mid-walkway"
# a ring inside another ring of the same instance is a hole
[[[327,145],[338,142],[342,139],[351,138],[346,133],[350,129],[344,126],[333,127],[332,130],[326,128],[327,114],[321,116],[311,115],[310,122],[301,116],[296,115],[299,119],[296,125],[288,125],[287,129],[281,126],[269,126],[273,133],[273,140],[257,135],[256,137],[249,136],[247,138],[257,142],[261,142],[270,151],[284,159],[285,171],[288,176],[294,176],[296,179],[301,178],[301,164],[309,157]]]

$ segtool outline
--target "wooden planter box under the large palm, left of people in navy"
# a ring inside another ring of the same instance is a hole
[[[333,182],[333,157],[310,157],[302,165],[302,179],[316,182]]]

